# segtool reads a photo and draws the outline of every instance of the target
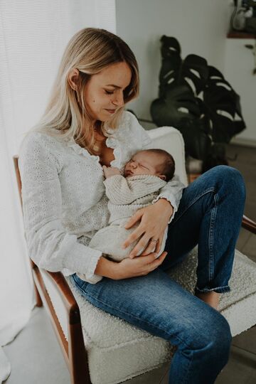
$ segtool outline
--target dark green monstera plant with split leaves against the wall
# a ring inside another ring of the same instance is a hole
[[[176,38],[161,37],[161,55],[159,98],[150,108],[154,123],[176,127],[186,154],[203,160],[203,171],[228,164],[225,143],[245,129],[239,95],[204,58],[182,60]]]

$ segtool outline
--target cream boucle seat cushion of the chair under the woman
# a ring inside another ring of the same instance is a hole
[[[195,248],[186,260],[167,273],[193,292],[196,266]],[[66,279],[80,308],[92,384],[120,383],[171,361],[174,348],[169,342],[96,308],[81,296],[70,277]],[[255,325],[256,319],[256,263],[238,250],[230,288],[231,292],[220,297],[220,312],[228,320],[235,336]],[[63,331],[68,337],[65,326]]]

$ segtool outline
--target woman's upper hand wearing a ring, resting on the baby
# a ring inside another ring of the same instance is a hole
[[[139,254],[149,255],[151,252],[156,252],[156,254],[160,252],[164,231],[173,212],[174,208],[169,201],[160,198],[159,201],[156,201],[151,206],[137,210],[137,213],[127,221],[124,226],[126,229],[131,228],[140,220],[139,226],[123,243],[123,247],[126,248],[140,238],[129,254],[131,259]],[[157,240],[157,242],[151,240]],[[142,252],[142,250],[144,251]]]

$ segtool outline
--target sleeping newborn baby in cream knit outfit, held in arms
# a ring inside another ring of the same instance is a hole
[[[122,243],[139,225],[137,223],[132,228],[125,229],[125,223],[138,209],[149,206],[154,201],[159,195],[159,190],[174,176],[175,164],[171,154],[163,149],[146,149],[134,154],[127,162],[124,166],[124,176],[117,168],[102,168],[106,178],[106,195],[109,198],[110,225],[95,233],[89,247],[100,250],[111,260],[120,262],[129,256],[139,241],[122,249]],[[165,241],[166,236],[159,255],[164,251]],[[140,254],[142,252],[143,250]],[[83,278],[82,274],[78,276]]]

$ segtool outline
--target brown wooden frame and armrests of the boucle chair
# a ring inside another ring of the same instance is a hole
[[[21,200],[21,175],[18,169],[18,156],[14,156],[14,167]],[[242,228],[245,228],[256,235],[256,223],[245,215],[242,218]],[[87,351],[82,336],[80,311],[65,277],[61,272],[39,270],[32,260],[31,269],[36,293],[36,306],[44,305],[50,315],[53,329],[58,338],[58,342],[60,343],[60,348],[63,352],[65,362],[68,365],[68,370],[70,371],[71,384],[92,384],[90,380]],[[55,314],[55,309],[53,308],[50,296],[43,282],[42,274],[46,274],[47,277],[50,277],[55,285],[56,292],[58,292],[58,295],[65,305],[68,319],[68,341],[63,334],[58,317]]]

